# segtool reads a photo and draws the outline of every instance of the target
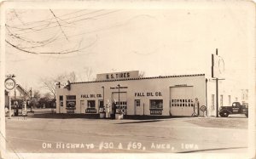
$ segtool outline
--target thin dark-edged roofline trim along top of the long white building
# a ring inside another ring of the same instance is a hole
[[[200,77],[205,74],[192,74],[192,75],[174,75],[174,76],[159,76],[159,77],[139,77],[139,78],[126,78],[126,79],[113,79],[102,81],[90,81],[90,82],[115,82],[115,81],[131,81],[131,80],[144,80],[144,79],[156,79],[156,78],[172,78],[172,77]],[[90,82],[70,82],[70,84],[90,83]]]

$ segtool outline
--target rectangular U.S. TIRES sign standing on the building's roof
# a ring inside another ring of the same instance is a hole
[[[97,74],[96,81],[129,79],[129,78],[138,78],[138,77],[139,77],[139,71],[123,71],[123,72]]]

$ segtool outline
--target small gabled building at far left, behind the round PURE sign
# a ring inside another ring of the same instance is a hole
[[[12,106],[14,106],[15,101],[21,106],[22,102],[30,100],[30,96],[30,92],[27,92],[20,84],[16,84],[16,87],[10,92],[5,90],[5,106],[9,107],[9,98]]]

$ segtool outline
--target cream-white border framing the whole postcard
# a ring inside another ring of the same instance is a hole
[[[198,5],[200,3],[200,5]],[[1,4],[1,57],[0,57],[0,79],[1,79],[1,93],[0,93],[0,116],[1,116],[1,125],[0,130],[3,133],[3,136],[5,137],[5,115],[4,115],[4,78],[5,78],[5,30],[4,27],[4,21],[5,21],[5,9],[227,9],[227,6],[232,6],[232,9],[239,9],[242,5],[245,5],[246,7],[252,8],[250,10],[249,16],[253,16],[255,19],[255,4],[253,1],[238,1],[238,0],[232,0],[232,1],[167,1],[167,0],[120,0],[120,1],[114,1],[114,0],[87,0],[87,1],[32,1],[32,2],[3,2]],[[214,4],[214,5],[212,5]],[[67,8],[68,6],[68,8]],[[253,9],[254,7],[254,9]],[[254,29],[247,29],[248,35],[252,35],[249,38],[248,43],[248,52],[249,52],[249,63],[248,66],[250,68],[250,88],[249,88],[249,123],[248,123],[248,145],[249,150],[247,154],[209,154],[209,153],[201,153],[201,154],[168,154],[168,153],[153,153],[153,154],[122,154],[122,153],[116,153],[116,154],[55,154],[55,153],[35,153],[35,154],[27,154],[27,153],[19,153],[19,156],[22,156],[22,158],[84,158],[84,157],[94,157],[94,158],[253,158],[255,156],[255,20],[253,21]],[[1,138],[1,147],[5,148],[5,140]],[[4,153],[4,150],[1,150],[1,154]],[[4,156],[4,158],[11,158],[15,157],[15,154],[9,154],[10,156]]]

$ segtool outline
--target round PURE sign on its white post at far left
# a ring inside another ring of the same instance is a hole
[[[9,119],[11,119],[12,116],[12,108],[11,108],[11,97],[10,97],[10,91],[13,90],[16,86],[15,79],[13,77],[7,77],[4,81],[4,86],[9,91]]]

